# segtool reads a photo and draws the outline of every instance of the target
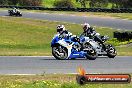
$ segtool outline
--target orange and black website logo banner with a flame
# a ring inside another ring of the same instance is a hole
[[[79,68],[79,74],[76,77],[77,83],[130,83],[129,74],[86,74],[83,68]]]

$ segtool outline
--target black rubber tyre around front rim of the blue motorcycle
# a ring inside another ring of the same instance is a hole
[[[55,53],[55,49],[57,49],[59,46],[53,46],[52,47],[52,55],[57,59],[57,60],[65,60],[67,57],[68,57],[68,52],[67,52],[67,49],[65,48],[65,47],[63,47],[63,49],[62,49],[62,53],[64,54],[64,56],[63,57],[59,57],[58,55],[57,55],[57,53]]]

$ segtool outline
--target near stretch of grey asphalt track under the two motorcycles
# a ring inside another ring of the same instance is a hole
[[[0,74],[77,73],[82,66],[87,73],[132,73],[132,56],[99,57],[96,60],[56,60],[54,57],[0,57]]]

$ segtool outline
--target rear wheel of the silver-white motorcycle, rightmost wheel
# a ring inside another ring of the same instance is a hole
[[[114,58],[117,55],[116,49],[112,45],[107,45],[107,56],[109,58]]]

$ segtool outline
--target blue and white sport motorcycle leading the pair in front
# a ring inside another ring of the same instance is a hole
[[[75,58],[95,60],[97,57],[96,50],[93,47],[83,48],[78,37],[61,38],[57,34],[52,39],[51,47],[52,55],[58,60]]]

